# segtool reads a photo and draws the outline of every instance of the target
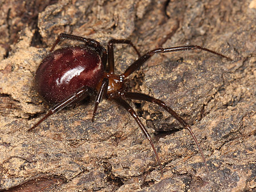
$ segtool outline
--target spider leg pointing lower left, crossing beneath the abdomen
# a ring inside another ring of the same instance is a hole
[[[51,116],[52,114],[60,111],[64,107],[70,106],[73,103],[76,103],[77,101],[81,101],[88,94],[88,90],[89,89],[87,87],[82,87],[82,89],[77,91],[75,94],[71,95],[70,97],[68,97],[64,101],[62,101],[62,102],[58,103],[57,105],[53,106],[52,108],[50,108],[50,110],[47,112],[47,114],[44,115],[44,117],[42,119],[40,119],[36,124],[34,124],[33,127],[29,128],[27,131],[33,130],[40,123],[42,123],[44,120],[46,120],[49,116]]]

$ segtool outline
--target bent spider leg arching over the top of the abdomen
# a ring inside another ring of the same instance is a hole
[[[81,41],[83,42],[85,45],[88,45],[89,47],[93,47],[95,48],[98,52],[101,53],[101,60],[102,60],[102,64],[104,65],[104,68],[106,69],[106,59],[107,59],[107,52],[106,49],[104,47],[101,46],[100,43],[98,43],[98,41],[94,40],[94,39],[90,39],[90,38],[85,38],[85,37],[81,37],[81,36],[76,36],[76,35],[70,35],[70,34],[63,34],[61,33],[55,43],[52,45],[52,48],[50,49],[50,52],[53,51],[53,49],[56,47],[56,45],[60,42],[60,40],[65,40],[65,39],[69,39],[69,40],[75,40],[75,41]]]

